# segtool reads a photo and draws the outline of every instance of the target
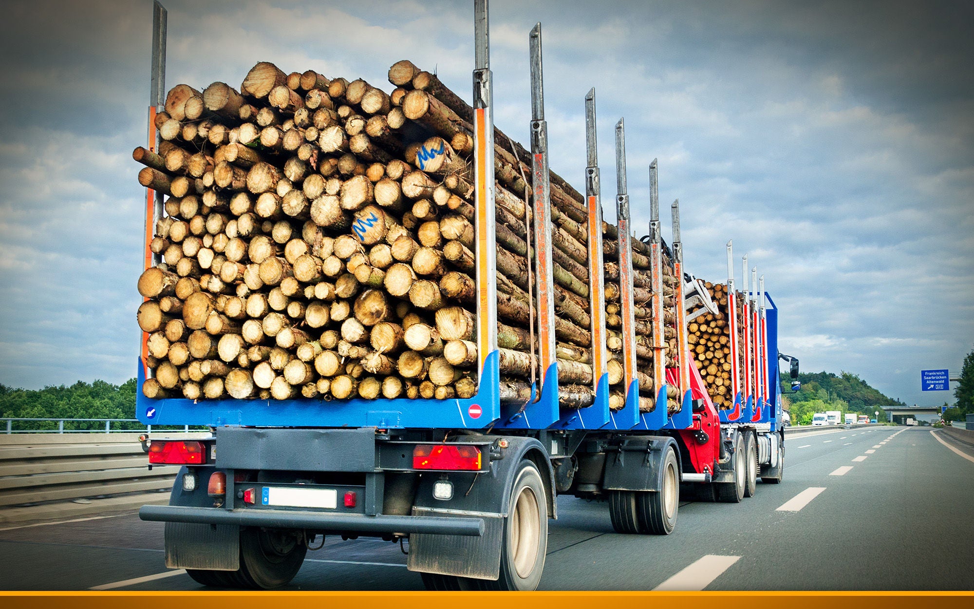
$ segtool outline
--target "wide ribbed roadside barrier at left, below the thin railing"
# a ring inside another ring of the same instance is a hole
[[[150,471],[139,436],[0,434],[0,508],[168,490],[179,467]]]

